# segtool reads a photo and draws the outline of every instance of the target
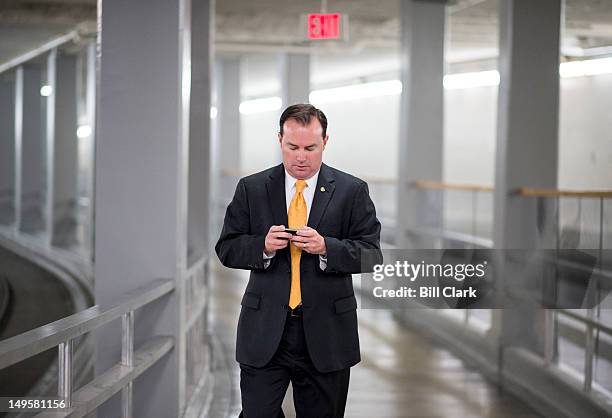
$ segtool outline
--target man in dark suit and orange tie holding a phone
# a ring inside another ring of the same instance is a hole
[[[251,270],[236,343],[246,418],[284,416],[290,381],[298,417],[342,417],[360,361],[351,274],[382,262],[380,223],[367,184],[322,163],[328,138],[322,111],[285,109],[283,163],[238,182],[215,246]]]

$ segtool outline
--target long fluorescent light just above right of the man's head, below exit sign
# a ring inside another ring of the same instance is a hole
[[[399,80],[376,81],[372,83],[355,84],[353,86],[336,87],[332,89],[314,90],[309,95],[313,104],[344,102],[365,99],[367,97],[392,96],[402,92]]]

